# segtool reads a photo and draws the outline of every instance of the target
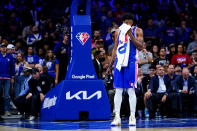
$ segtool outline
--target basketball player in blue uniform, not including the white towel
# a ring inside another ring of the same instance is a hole
[[[133,16],[131,14],[126,13],[123,18],[123,24],[129,25],[130,29],[125,34],[125,39],[130,41],[130,51],[128,58],[128,65],[126,67],[122,67],[121,70],[118,70],[117,67],[117,54],[119,50],[119,38],[121,29],[116,30],[115,32],[115,44],[112,52],[112,59],[107,69],[107,73],[111,73],[112,64],[114,62],[115,54],[115,63],[114,63],[114,87],[116,88],[116,93],[114,96],[114,109],[115,109],[115,118],[112,121],[112,126],[121,125],[120,119],[120,107],[122,103],[122,92],[123,90],[127,90],[129,95],[129,105],[130,105],[130,117],[129,117],[129,125],[136,126],[135,119],[135,110],[136,110],[136,95],[135,95],[135,84],[137,81],[137,52],[142,49],[143,45],[143,31],[142,29],[132,26],[133,25]]]

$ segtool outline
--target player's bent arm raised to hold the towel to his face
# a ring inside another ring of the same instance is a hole
[[[132,34],[132,30],[130,29],[128,32],[128,35],[131,39],[131,41],[133,42],[134,46],[138,49],[138,50],[142,50],[143,49],[143,31],[140,28],[136,29],[136,36],[137,38],[135,38]]]

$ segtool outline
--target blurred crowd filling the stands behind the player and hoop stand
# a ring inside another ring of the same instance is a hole
[[[0,1],[1,115],[12,115],[10,110],[17,108],[22,119],[34,120],[45,94],[65,79],[70,60],[71,2]],[[115,31],[126,12],[134,15],[134,25],[144,33],[138,54],[136,115],[196,116],[196,0],[91,1],[92,58],[97,76],[106,86],[112,114],[113,72],[106,74],[106,69]],[[159,87],[166,90],[158,91]],[[128,95],[123,95],[127,100],[121,112],[128,116]]]

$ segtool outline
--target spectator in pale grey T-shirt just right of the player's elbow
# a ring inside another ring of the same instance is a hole
[[[152,53],[147,51],[146,49],[146,43],[143,43],[143,49],[138,54],[138,62],[141,66],[141,70],[144,75],[149,74],[149,67],[151,66],[151,63],[153,62],[153,56]]]

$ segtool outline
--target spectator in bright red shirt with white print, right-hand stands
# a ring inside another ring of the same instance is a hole
[[[190,65],[191,63],[192,62],[189,55],[183,53],[183,45],[179,44],[177,54],[172,56],[171,64],[173,65],[180,64],[181,66],[184,66],[184,65]]]

